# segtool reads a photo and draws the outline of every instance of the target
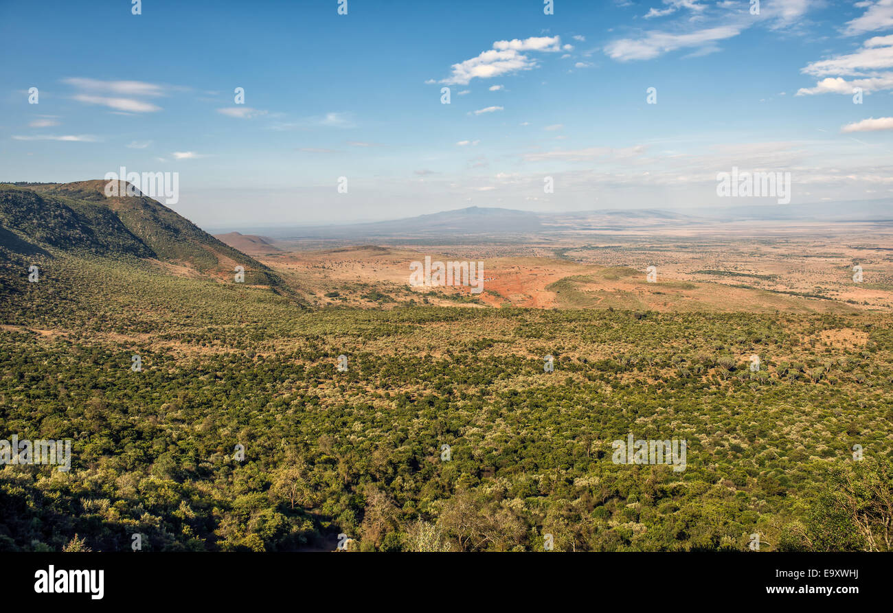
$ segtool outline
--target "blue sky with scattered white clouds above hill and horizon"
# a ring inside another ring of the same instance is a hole
[[[179,172],[205,228],[739,205],[732,166],[790,172],[792,204],[893,196],[893,0],[141,11],[0,1],[0,180]]]

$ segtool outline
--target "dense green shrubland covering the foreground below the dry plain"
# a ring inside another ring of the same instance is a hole
[[[73,461],[0,468],[2,549],[890,549],[889,316],[306,311],[31,259],[4,263],[0,437]],[[688,468],[613,464],[630,432]]]

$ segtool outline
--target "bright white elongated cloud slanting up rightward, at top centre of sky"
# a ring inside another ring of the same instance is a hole
[[[519,70],[531,70],[537,63],[522,52],[561,51],[561,37],[530,37],[497,40],[493,48],[470,60],[453,64],[453,74],[443,79],[447,85],[467,85],[472,79],[493,79]]]

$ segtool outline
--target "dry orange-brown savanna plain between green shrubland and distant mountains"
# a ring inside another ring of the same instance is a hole
[[[842,227],[841,227],[842,226]],[[480,244],[264,243],[246,253],[287,274],[317,306],[438,305],[855,313],[893,309],[893,224],[739,222],[724,228],[573,233],[547,242]],[[526,242],[530,241],[530,242]],[[245,246],[247,241],[231,243]],[[297,249],[295,247],[298,247]],[[303,247],[303,248],[302,248]],[[275,251],[274,251],[275,250]],[[482,261],[484,291],[413,287],[411,261]],[[654,266],[655,282],[647,281]],[[861,281],[854,280],[861,267]],[[460,297],[468,299],[463,302]]]

